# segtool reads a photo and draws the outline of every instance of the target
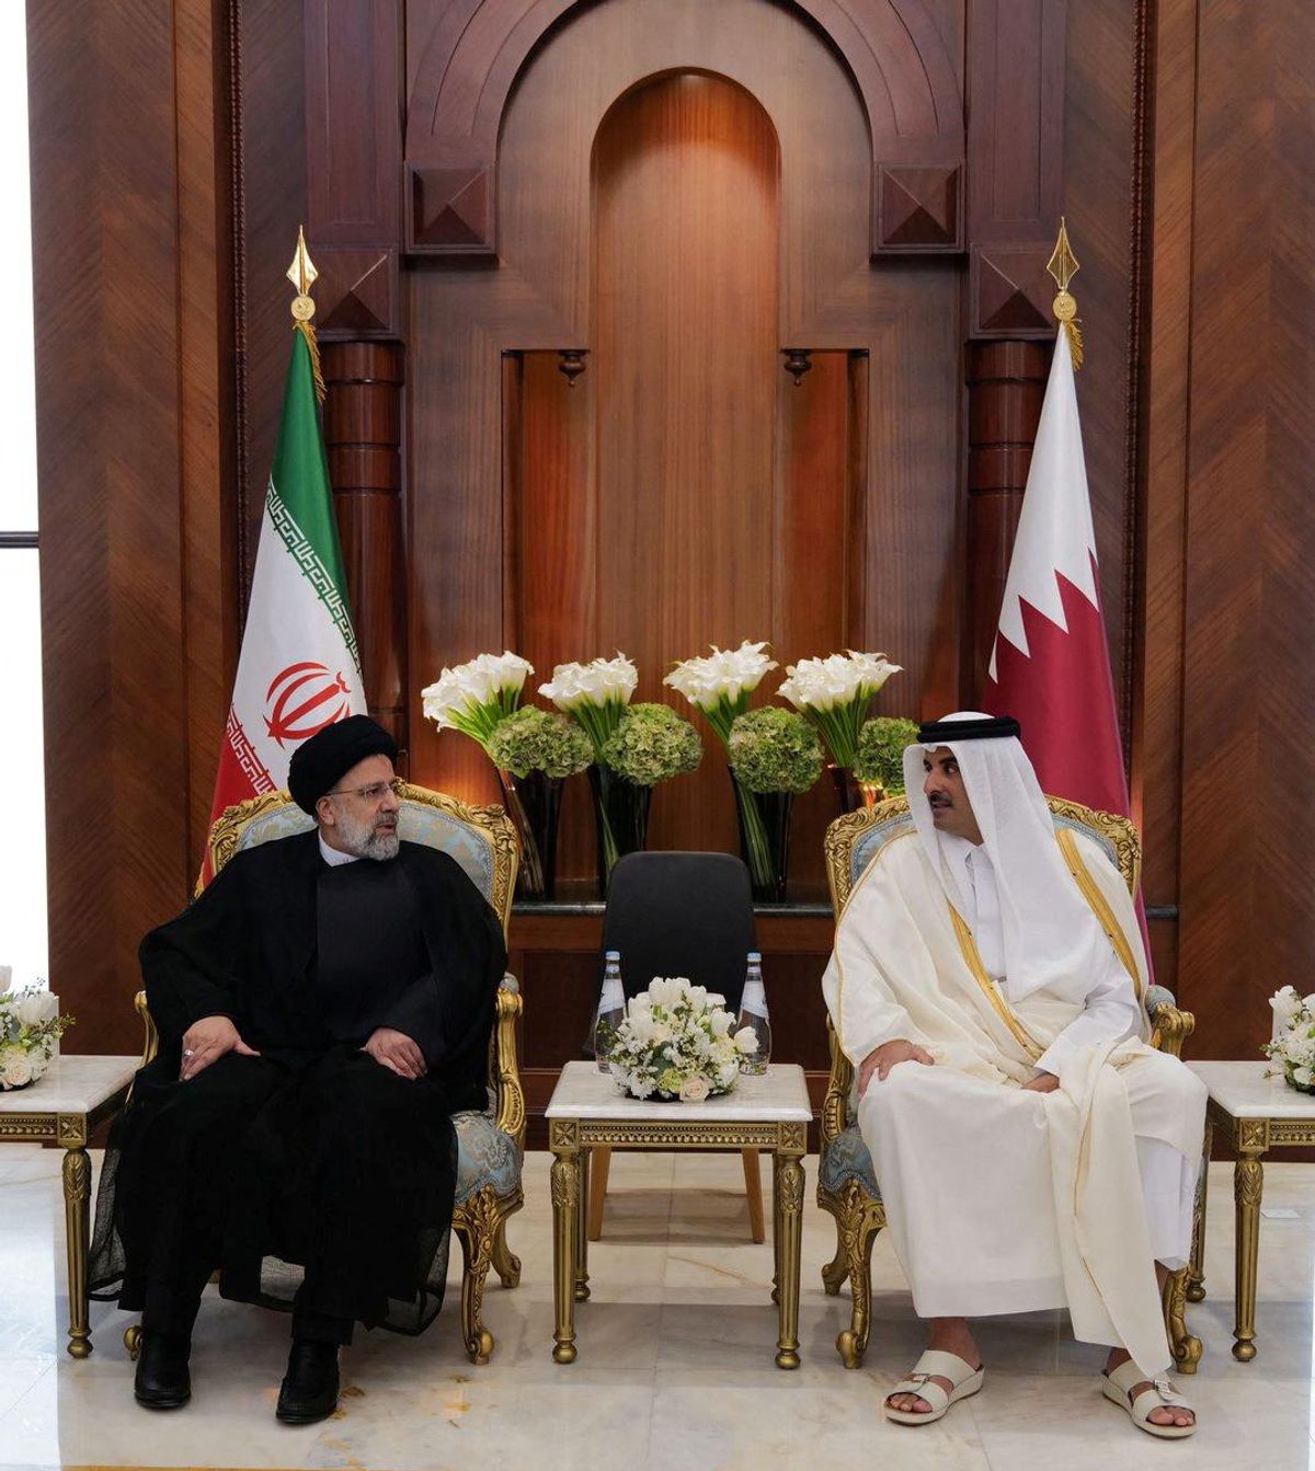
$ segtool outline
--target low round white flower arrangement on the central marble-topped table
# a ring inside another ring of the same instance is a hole
[[[741,1058],[758,1050],[752,1027],[731,1028],[735,1018],[725,997],[684,977],[655,975],[647,991],[632,996],[607,1052],[612,1077],[632,1097],[702,1103],[730,1093],[740,1080]]]

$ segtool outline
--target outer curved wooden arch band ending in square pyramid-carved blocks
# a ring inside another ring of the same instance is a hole
[[[547,32],[585,3],[440,0],[406,112],[410,254],[497,254],[497,140],[512,85]],[[962,250],[963,99],[924,0],[793,7],[840,53],[868,115],[872,253]]]

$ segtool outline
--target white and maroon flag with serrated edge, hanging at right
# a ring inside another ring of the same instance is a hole
[[[1012,715],[1041,790],[1130,815],[1083,427],[1059,328],[983,709]]]

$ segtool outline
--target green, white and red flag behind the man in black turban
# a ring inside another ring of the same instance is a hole
[[[287,786],[297,746],[365,708],[315,365],[309,334],[299,325],[210,824],[225,808]],[[207,844],[202,883],[212,877]]]

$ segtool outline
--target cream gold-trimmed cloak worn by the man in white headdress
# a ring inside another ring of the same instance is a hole
[[[1140,990],[1127,887],[1096,843],[1075,834],[1074,847]],[[1022,1091],[1086,986],[1066,978],[1009,1006],[913,834],[859,880],[824,978],[855,1068],[896,1037],[937,1062],[902,1064],[858,1106],[919,1315],[1066,1306],[1078,1339],[1119,1343],[1156,1374],[1171,1355],[1146,1211],[1130,1209],[1143,1200],[1137,1141],[1199,1159],[1205,1090],[1134,1037],[1061,1055],[1059,1089]]]

